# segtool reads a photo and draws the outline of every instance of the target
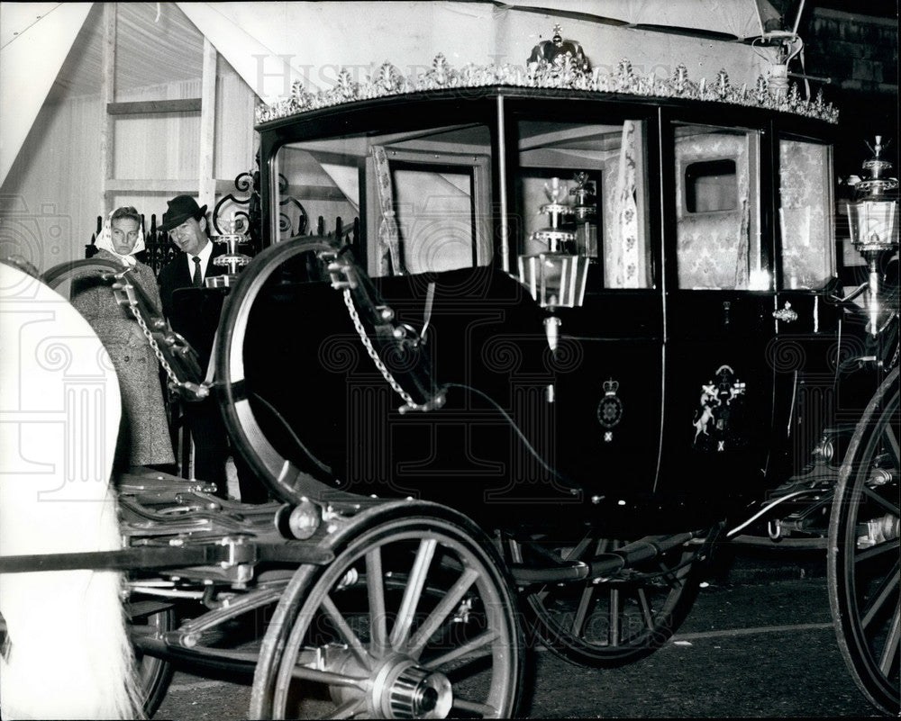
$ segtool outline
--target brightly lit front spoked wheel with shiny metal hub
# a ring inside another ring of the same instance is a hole
[[[452,511],[376,518],[302,566],[268,626],[257,718],[510,717],[523,648],[487,540]]]

